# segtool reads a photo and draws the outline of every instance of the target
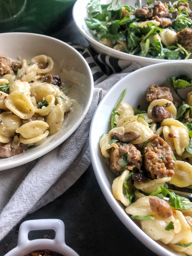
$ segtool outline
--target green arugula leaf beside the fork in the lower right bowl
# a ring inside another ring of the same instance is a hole
[[[166,188],[160,186],[161,192],[163,196],[166,196],[169,194],[169,204],[174,208],[174,209],[182,209],[182,210],[188,210],[192,208],[192,204],[184,203],[183,201],[188,201],[188,198],[184,196],[178,196],[174,192],[170,192]]]

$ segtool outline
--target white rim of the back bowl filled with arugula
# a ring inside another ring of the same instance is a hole
[[[87,33],[85,33],[85,31],[81,28],[81,24],[79,24],[76,21],[76,16],[75,16],[75,10],[76,10],[76,6],[79,4],[79,2],[84,3],[82,0],[77,0],[76,3],[73,6],[73,20],[75,22],[75,25],[77,27],[77,29],[79,30],[79,32],[88,40],[90,41],[92,44],[95,44],[96,46],[103,48],[104,51],[110,51],[111,53],[117,54],[117,50],[108,47],[104,44],[101,44],[99,41],[97,41],[96,39],[92,38],[91,36],[87,35]],[[87,0],[87,3],[89,2],[89,0]],[[124,58],[124,60],[134,60],[134,61],[145,61],[145,62],[151,62],[152,60],[155,63],[162,63],[162,62],[172,62],[172,61],[179,61],[179,62],[191,62],[192,59],[188,59],[188,60],[164,60],[164,59],[155,59],[155,58],[148,58],[148,57],[142,57],[142,56],[138,56],[138,55],[134,55],[134,54],[130,54],[127,52],[120,52],[118,51],[118,55],[119,55],[119,59]],[[128,57],[130,57],[128,59]],[[115,58],[115,57],[114,57]]]

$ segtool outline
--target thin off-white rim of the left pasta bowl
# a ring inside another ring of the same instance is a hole
[[[60,140],[55,140],[52,144],[48,145],[46,148],[44,148],[44,150],[42,150],[41,152],[34,152],[33,154],[30,154],[29,156],[25,156],[23,159],[14,159],[14,161],[10,162],[9,164],[4,163],[2,164],[1,161],[1,169],[0,170],[6,170],[6,169],[10,169],[13,167],[17,167],[23,164],[26,164],[28,162],[31,162],[45,154],[47,154],[48,152],[50,152],[51,150],[53,150],[54,148],[56,148],[57,146],[59,146],[63,141],[65,141],[66,139],[68,139],[68,137],[75,132],[75,130],[78,128],[78,126],[82,123],[82,121],[84,120],[90,106],[92,103],[92,98],[93,98],[93,92],[94,92],[94,81],[93,81],[93,76],[92,76],[92,72],[91,72],[91,68],[89,67],[88,63],[86,62],[86,60],[84,59],[84,57],[75,49],[73,48],[71,45],[57,39],[51,36],[45,36],[45,35],[41,35],[41,34],[36,34],[36,33],[27,33],[27,32],[9,32],[9,33],[1,33],[0,36],[3,35],[19,35],[19,34],[23,34],[23,35],[31,35],[31,36],[38,36],[38,37],[43,37],[43,38],[49,38],[51,40],[54,41],[58,41],[62,44],[65,44],[67,47],[69,47],[71,49],[71,51],[75,52],[77,55],[79,55],[80,59],[84,62],[87,71],[89,73],[89,79],[90,79],[90,95],[89,95],[89,100],[86,102],[86,108],[84,113],[81,115],[81,117],[78,119],[78,121],[76,122],[76,124],[68,131],[66,132],[61,138]]]

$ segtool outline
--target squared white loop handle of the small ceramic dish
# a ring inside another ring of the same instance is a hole
[[[31,230],[53,229],[55,230],[54,239],[44,239],[50,244],[65,244],[65,226],[62,220],[43,219],[43,220],[26,220],[20,225],[18,245],[26,245],[33,240],[28,240],[28,233]],[[36,242],[42,242],[42,239],[36,239]]]

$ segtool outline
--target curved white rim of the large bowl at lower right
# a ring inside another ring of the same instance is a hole
[[[158,69],[158,67],[160,66],[180,66],[182,64],[186,65],[186,62],[184,61],[172,61],[169,63],[158,63],[158,64],[153,64],[152,66],[156,66],[156,68]],[[188,64],[188,65],[192,65],[192,63]],[[107,95],[114,90],[114,88],[118,87],[119,83],[122,83],[123,81],[126,81],[127,77],[130,76],[135,76],[136,74],[140,73],[140,70],[144,70],[144,69],[150,69],[151,66],[146,66],[143,68],[140,68],[136,71],[133,71],[131,74],[128,74],[127,76],[124,76],[122,79],[120,79],[116,84],[114,84],[111,89],[105,94],[105,96],[102,98],[102,100],[100,101],[94,115],[92,118],[92,122],[91,122],[91,126],[90,126],[90,132],[89,132],[89,148],[90,148],[90,156],[91,156],[91,162],[92,162],[92,166],[93,166],[93,170],[96,176],[96,179],[99,183],[99,186],[103,192],[103,195],[105,196],[106,200],[108,201],[108,204],[111,206],[111,208],[113,209],[113,211],[116,213],[117,217],[123,222],[123,224],[132,232],[132,234],[134,236],[136,236],[144,245],[146,245],[151,251],[155,252],[158,255],[164,255],[164,256],[176,256],[177,254],[167,250],[166,248],[164,248],[163,246],[161,246],[160,244],[158,244],[155,240],[153,240],[152,238],[150,238],[141,228],[139,228],[132,220],[131,218],[127,218],[128,215],[127,213],[124,211],[123,208],[120,207],[120,205],[117,203],[117,200],[115,199],[115,197],[112,195],[111,191],[108,189],[103,176],[100,172],[100,168],[98,166],[98,163],[96,161],[96,154],[94,151],[94,140],[92,140],[92,137],[94,135],[92,135],[92,129],[95,126],[94,124],[94,118],[97,114],[97,111],[100,110],[100,108],[102,108],[103,102],[105,101],[105,98],[107,97]],[[108,122],[108,121],[107,121]]]

